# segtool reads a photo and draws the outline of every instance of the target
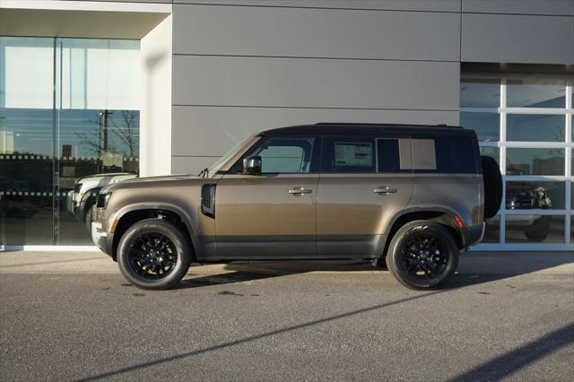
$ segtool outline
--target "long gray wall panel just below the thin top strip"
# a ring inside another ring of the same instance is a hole
[[[459,34],[458,13],[174,5],[176,54],[455,61]]]

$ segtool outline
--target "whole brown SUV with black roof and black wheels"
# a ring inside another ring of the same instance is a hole
[[[291,126],[249,136],[197,176],[104,187],[91,235],[143,289],[174,286],[192,261],[386,259],[427,290],[483,238],[501,190],[474,130]]]

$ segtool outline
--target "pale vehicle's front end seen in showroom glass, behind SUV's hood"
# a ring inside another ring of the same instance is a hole
[[[77,178],[74,182],[74,191],[67,193],[67,210],[69,213],[72,213],[78,221],[83,221],[88,230],[90,230],[91,207],[96,204],[100,189],[109,184],[136,177],[137,175],[129,172],[114,172]]]

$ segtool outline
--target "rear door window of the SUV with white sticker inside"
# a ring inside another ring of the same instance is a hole
[[[324,138],[323,172],[375,172],[375,142],[371,138]]]

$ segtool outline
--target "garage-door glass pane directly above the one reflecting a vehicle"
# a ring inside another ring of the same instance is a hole
[[[564,149],[507,149],[507,175],[564,175]]]

